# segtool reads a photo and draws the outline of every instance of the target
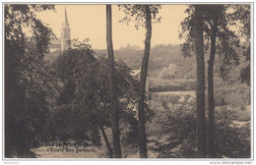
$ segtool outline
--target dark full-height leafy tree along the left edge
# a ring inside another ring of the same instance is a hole
[[[53,35],[36,12],[54,5],[5,4],[5,157],[34,157],[50,95],[50,72],[43,62]],[[24,28],[32,29],[32,39]]]

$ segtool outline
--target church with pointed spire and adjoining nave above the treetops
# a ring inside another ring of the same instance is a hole
[[[61,28],[61,37],[60,38],[55,38],[51,40],[51,44],[49,45],[49,51],[54,52],[54,51],[65,51],[67,50],[70,45],[67,44],[67,40],[71,39],[71,29],[69,27],[69,22],[68,22],[68,16],[67,16],[67,11],[65,9],[65,16],[64,16],[64,23],[62,23],[62,28]]]

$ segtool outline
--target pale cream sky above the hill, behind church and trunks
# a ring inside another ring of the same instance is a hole
[[[67,10],[68,21],[71,28],[71,38],[90,38],[90,43],[95,49],[105,49],[105,5],[55,5],[55,12],[47,11],[38,13],[38,17],[52,28],[57,37],[60,37],[64,11]],[[178,38],[180,22],[187,16],[184,11],[185,5],[167,4],[162,5],[159,16],[160,23],[153,24],[152,45],[157,44],[180,44]],[[119,23],[125,15],[119,11],[117,5],[112,5],[112,37],[114,49],[131,46],[144,47],[146,29],[136,29],[134,24],[129,26]]]

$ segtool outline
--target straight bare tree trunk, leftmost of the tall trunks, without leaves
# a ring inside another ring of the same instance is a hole
[[[115,85],[115,70],[114,70],[114,52],[112,45],[112,18],[111,18],[111,5],[106,5],[106,46],[107,56],[109,63],[109,86],[112,108],[112,135],[113,135],[113,153],[115,158],[122,157],[121,145],[120,145],[120,131],[119,131],[119,112],[117,93]]]

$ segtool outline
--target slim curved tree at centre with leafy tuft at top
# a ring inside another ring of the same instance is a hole
[[[140,156],[141,158],[147,158],[147,134],[146,134],[146,117],[145,117],[145,86],[147,81],[148,65],[151,50],[151,38],[152,38],[152,20],[156,19],[156,15],[159,13],[160,5],[122,5],[126,18],[122,22],[129,23],[131,17],[134,17],[136,21],[136,27],[146,27],[146,38],[144,56],[141,67],[141,78],[140,78],[140,97],[138,105],[139,113],[139,145],[140,145]],[[152,19],[153,16],[153,19]],[[157,19],[160,21],[160,19]]]

